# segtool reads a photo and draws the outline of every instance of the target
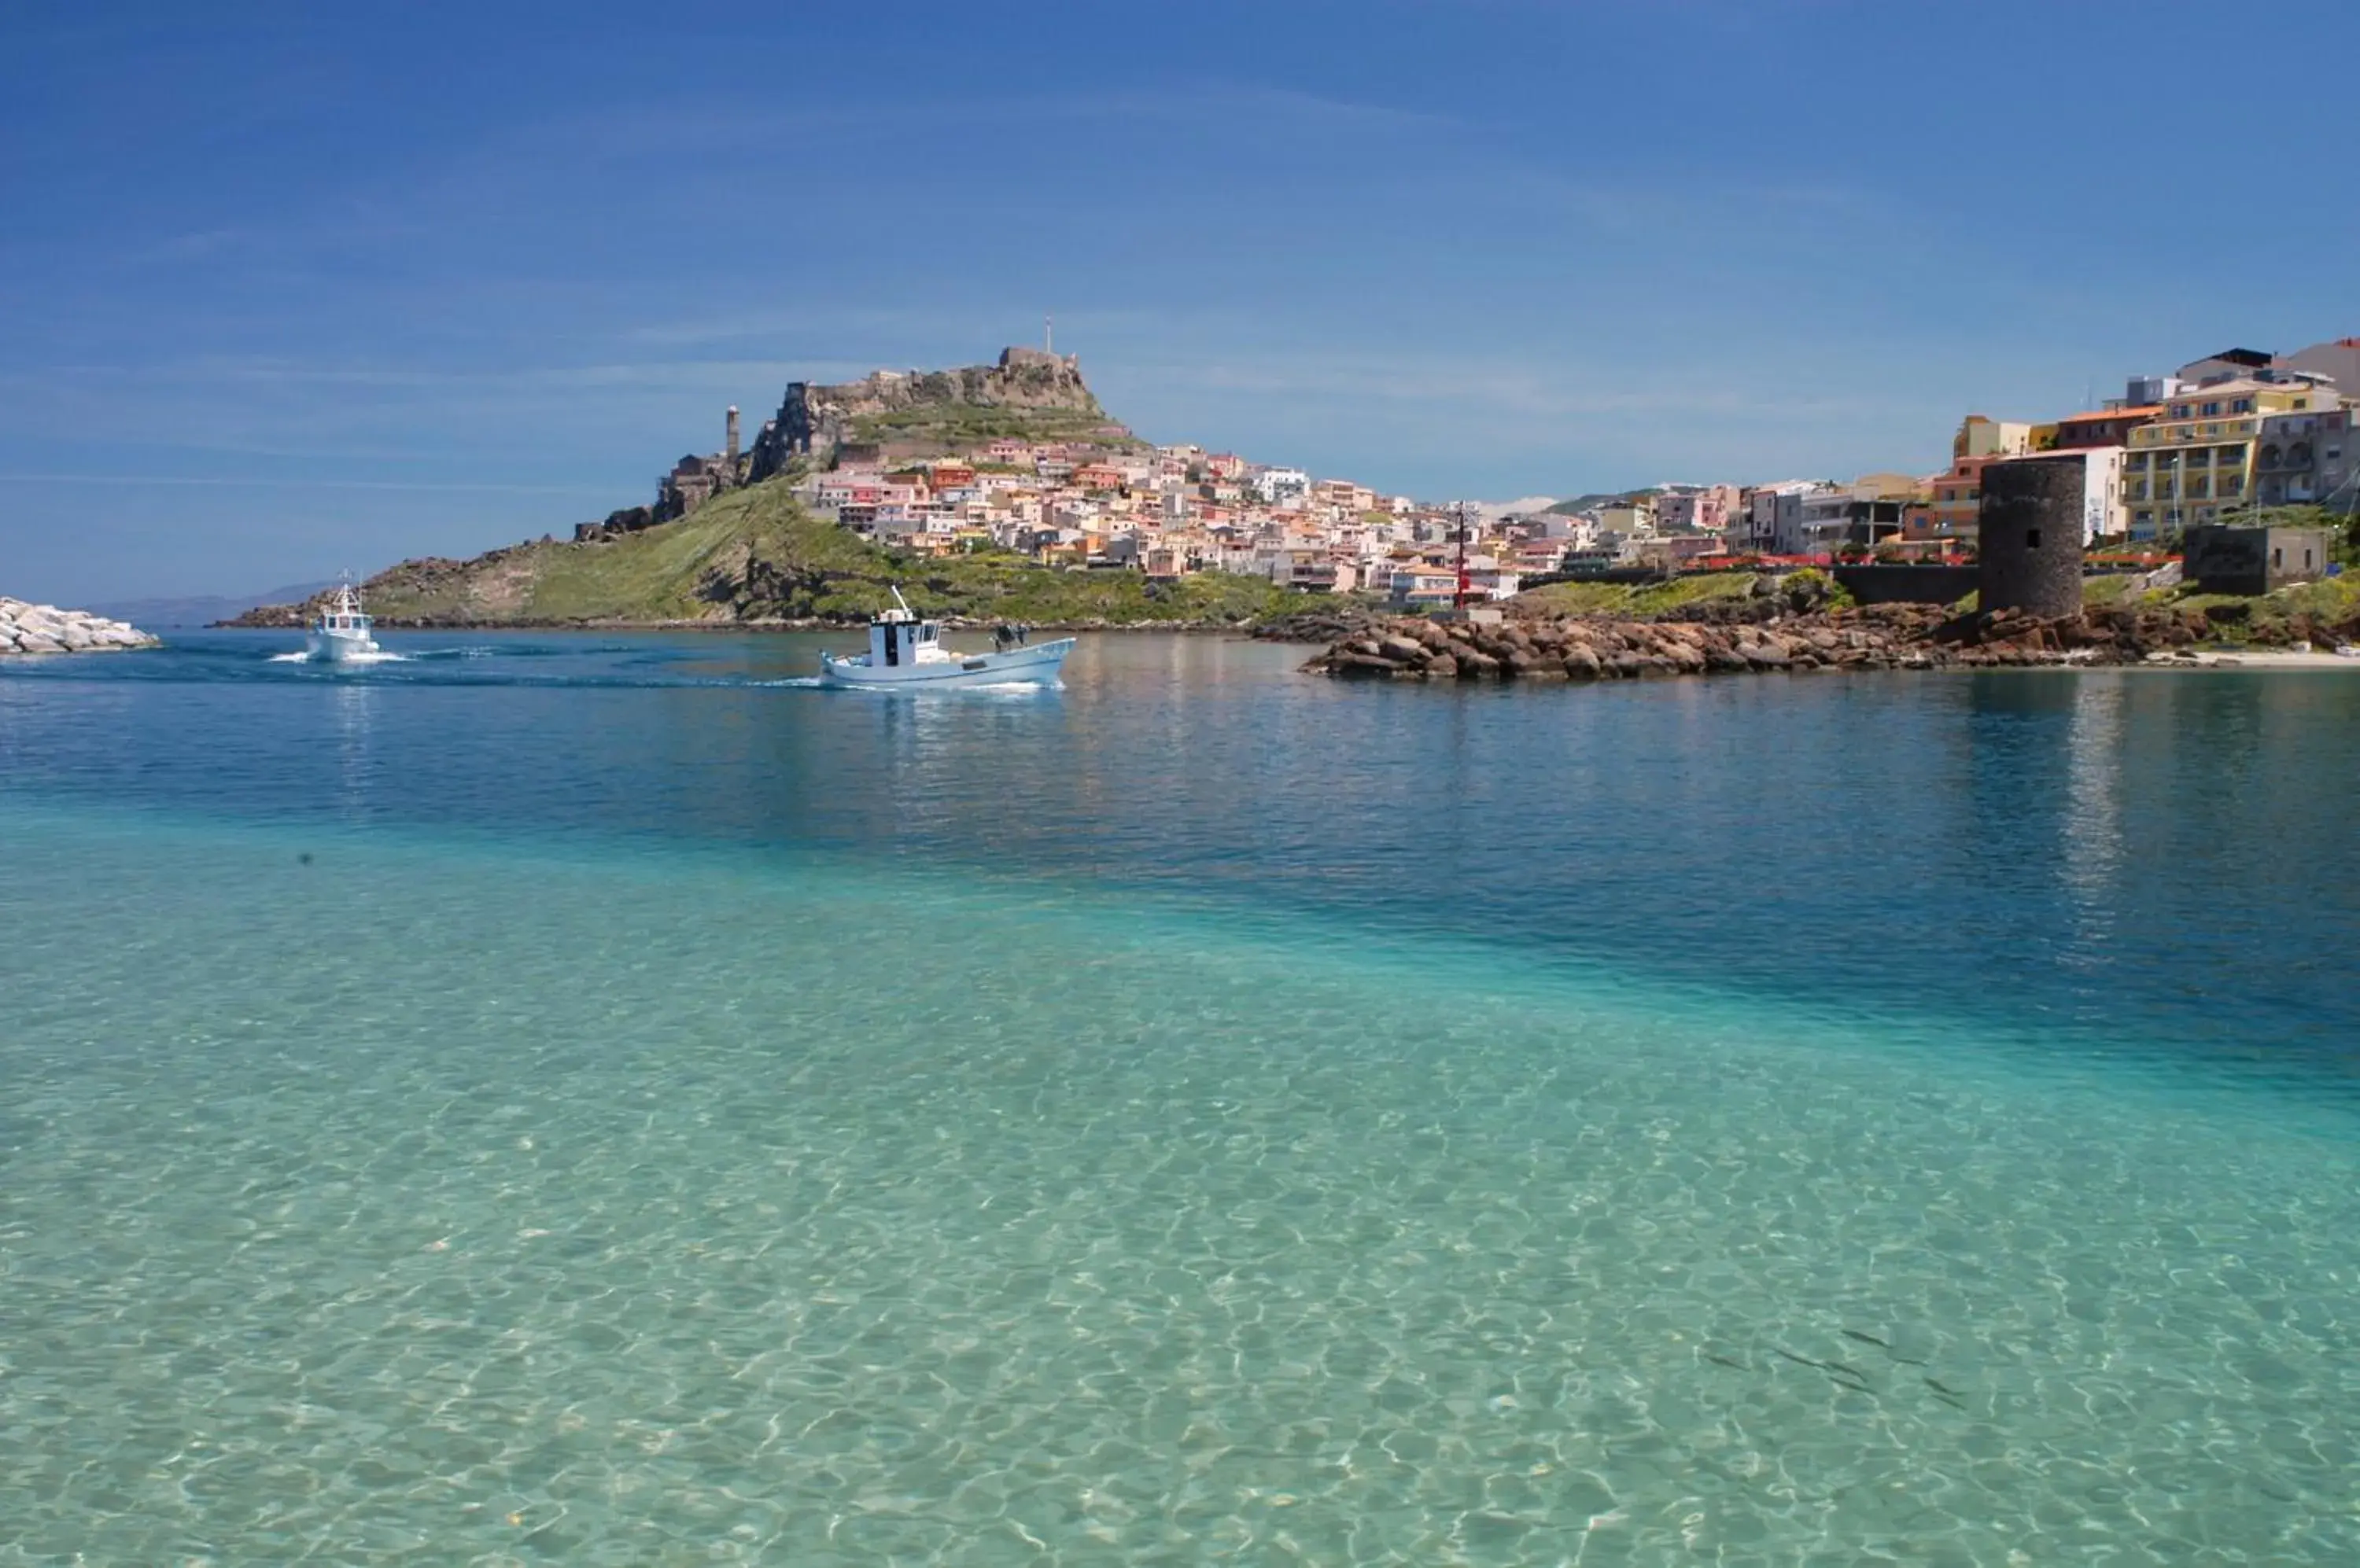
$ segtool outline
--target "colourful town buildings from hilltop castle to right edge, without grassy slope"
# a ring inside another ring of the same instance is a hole
[[[739,450],[729,410],[722,453],[684,457],[654,507],[588,523],[578,538],[684,516],[710,495],[807,457],[793,479],[802,507],[897,552],[1012,552],[1043,566],[1149,580],[1234,573],[1286,589],[1428,606],[1461,592],[1461,556],[1466,589],[1480,599],[1614,568],[1964,561],[1975,549],[1985,469],[2041,455],[2084,465],[2084,545],[2159,547],[2256,507],[2360,512],[2353,337],[2287,356],[2228,349],[2171,375],[2129,377],[2124,396],[2053,420],[1971,413],[1949,436],[1947,467],[1930,474],[1659,483],[1466,512],[1239,453],[1147,446],[1104,420],[1074,358],[1038,349],[1008,349],[996,370],[944,375],[968,377],[970,394],[984,396],[994,387],[982,380],[1029,384],[1029,403],[1008,413],[1057,410],[1069,415],[1067,434],[961,443],[958,429],[975,431],[982,420],[946,429],[944,420],[906,417],[925,406],[923,373],[878,373],[852,387],[795,384],[753,448]],[[979,413],[975,403],[951,406]],[[892,410],[904,410],[899,424],[880,417]]]

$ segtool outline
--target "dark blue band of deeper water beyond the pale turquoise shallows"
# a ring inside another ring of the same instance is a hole
[[[0,790],[1076,879],[2138,1049],[2221,1052],[2235,995],[2240,1054],[2351,1075],[2343,672],[1423,689],[1095,637],[1064,691],[779,686],[824,641],[408,634],[321,684],[198,637],[0,674]]]

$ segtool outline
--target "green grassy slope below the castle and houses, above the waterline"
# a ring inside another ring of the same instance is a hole
[[[904,561],[807,516],[788,483],[746,486],[623,535],[404,561],[361,594],[389,627],[866,620],[892,587],[937,615],[1034,625],[1244,625],[1300,604],[1260,578],[1218,573],[1147,582],[996,554]],[[264,606],[231,625],[293,627],[316,604]]]

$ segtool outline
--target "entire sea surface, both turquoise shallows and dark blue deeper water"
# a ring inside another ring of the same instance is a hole
[[[0,672],[0,1563],[2360,1561],[2339,674],[278,646]]]

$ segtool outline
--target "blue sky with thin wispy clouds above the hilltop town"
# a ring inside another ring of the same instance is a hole
[[[1971,408],[2360,332],[2341,94],[2261,71],[2266,33],[2157,0],[14,0],[0,592],[566,533],[727,403],[1043,311],[1140,434],[1383,490],[1928,472]],[[2351,59],[2360,9],[2289,38]]]

